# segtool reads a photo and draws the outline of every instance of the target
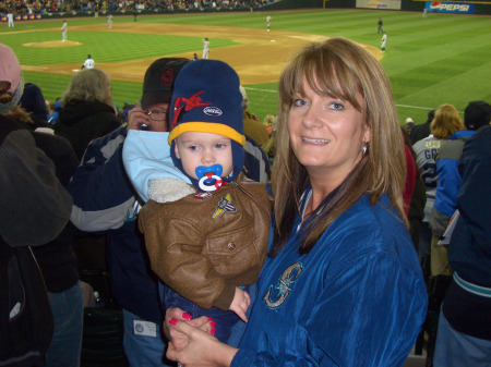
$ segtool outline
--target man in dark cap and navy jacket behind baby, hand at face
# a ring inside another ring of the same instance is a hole
[[[136,215],[143,201],[132,187],[122,163],[122,148],[128,130],[147,125],[151,132],[168,126],[170,97],[175,77],[187,59],[158,59],[149,65],[143,83],[141,106],[129,112],[127,126],[93,140],[75,171],[69,191],[74,206],[72,222],[87,232],[107,233],[107,261],[116,301],[123,308],[124,352],[132,367],[168,366],[163,362],[166,342],[161,339],[164,321],[157,294],[157,277],[152,272]],[[169,69],[171,74],[165,73]],[[161,84],[163,76],[167,83]],[[168,134],[151,134],[166,138]],[[246,144],[248,175],[259,181],[267,176],[267,159],[258,145]],[[158,150],[158,145],[157,145]]]

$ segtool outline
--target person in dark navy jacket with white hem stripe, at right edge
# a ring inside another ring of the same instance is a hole
[[[460,218],[448,244],[455,272],[440,313],[434,367],[486,367],[491,360],[490,142],[488,124],[465,143],[458,164]]]

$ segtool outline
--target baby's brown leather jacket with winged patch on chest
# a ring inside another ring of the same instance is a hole
[[[265,184],[242,178],[204,199],[151,200],[139,213],[152,269],[202,308],[229,309],[236,286],[255,283],[266,258],[271,199]]]

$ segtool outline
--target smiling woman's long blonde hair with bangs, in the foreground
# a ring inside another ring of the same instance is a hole
[[[403,137],[391,85],[380,63],[362,47],[344,38],[314,42],[301,50],[283,71],[279,84],[278,131],[272,187],[275,198],[275,249],[279,253],[300,212],[300,196],[309,185],[306,168],[297,160],[288,134],[288,114],[303,82],[319,95],[351,103],[363,113],[371,139],[367,152],[327,205],[321,205],[303,231],[300,254],[308,253],[331,223],[368,194],[374,205],[388,194],[407,224],[403,206],[406,162]],[[362,97],[362,105],[357,100]],[[363,142],[360,142],[360,149]]]

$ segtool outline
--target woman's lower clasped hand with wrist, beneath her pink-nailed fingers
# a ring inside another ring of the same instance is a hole
[[[200,330],[189,322],[171,319],[169,329],[185,335],[188,344],[176,348],[169,343],[166,356],[171,360],[178,360],[185,367],[228,367],[237,353],[237,348],[220,343],[208,332]]]

